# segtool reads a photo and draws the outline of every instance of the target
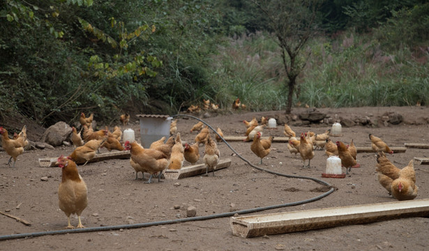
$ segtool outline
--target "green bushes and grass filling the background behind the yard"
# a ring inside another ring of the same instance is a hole
[[[2,1],[0,121],[19,113],[48,126],[94,112],[109,122],[202,99],[225,110],[237,97],[285,109],[285,66],[257,2],[279,1]],[[429,3],[318,6],[294,105],[429,104]]]

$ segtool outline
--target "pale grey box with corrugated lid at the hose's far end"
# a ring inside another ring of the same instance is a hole
[[[153,114],[140,114],[137,117],[140,119],[140,136],[144,148],[149,148],[152,142],[164,136],[170,136],[172,117]]]

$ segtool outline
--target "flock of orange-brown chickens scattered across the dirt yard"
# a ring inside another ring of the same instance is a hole
[[[204,100],[205,101],[205,100]],[[236,102],[235,100],[234,102]],[[209,102],[204,102],[209,107]],[[122,126],[127,126],[130,115],[122,114],[119,121]],[[153,142],[149,149],[144,149],[142,145],[134,142],[123,142],[122,129],[114,126],[112,132],[106,126],[100,130],[93,130],[93,114],[86,117],[82,112],[80,116],[80,130],[74,126],[70,133],[70,141],[73,142],[73,151],[68,155],[58,158],[56,165],[61,168],[61,183],[59,184],[58,197],[59,208],[68,218],[66,228],[74,228],[70,223],[70,215],[76,214],[79,220],[77,228],[84,227],[80,220],[82,211],[88,204],[87,187],[79,169],[90,162],[98,153],[100,148],[107,151],[130,151],[130,167],[135,171],[135,179],[142,179],[144,183],[151,183],[153,176],[161,182],[163,170],[182,169],[185,161],[190,165],[201,162],[205,167],[205,175],[208,176],[209,170],[213,176],[220,161],[220,151],[216,142],[223,142],[223,131],[218,127],[216,131],[211,130],[209,126],[199,121],[192,128],[189,128],[191,134],[195,134],[193,142],[182,142],[181,132],[177,128],[177,119],[174,119],[170,125],[170,137],[162,137]],[[260,123],[259,123],[260,121]],[[250,143],[250,151],[260,159],[257,165],[262,165],[264,158],[271,153],[274,137],[262,137],[267,119],[262,117],[260,120],[253,117],[250,121],[243,121],[245,131],[244,142]],[[10,138],[8,130],[0,127],[2,146],[10,156],[7,165],[15,167],[17,157],[24,153],[24,147],[27,146],[27,127],[24,126],[19,134],[14,133]],[[315,133],[308,130],[301,132],[299,139],[290,126],[285,124],[283,134],[288,138],[286,144],[291,154],[299,154],[303,162],[303,168],[310,168],[310,161],[315,156],[315,150],[324,150],[324,154],[329,157],[337,155],[346,174],[349,175],[352,167],[356,167],[358,160],[357,151],[353,139],[349,144],[336,141],[333,142],[330,136],[330,130],[322,133]],[[416,176],[414,172],[413,161],[410,160],[406,167],[399,169],[390,162],[385,153],[393,154],[393,151],[379,137],[370,134],[370,144],[372,150],[377,153],[375,172],[377,179],[385,188],[389,195],[398,200],[414,199],[417,196],[419,188],[416,185]],[[200,154],[200,148],[203,153]],[[269,157],[268,157],[269,158]],[[13,165],[12,165],[13,160]],[[306,162],[308,161],[308,165]],[[82,166],[78,166],[82,165]],[[15,167],[16,168],[16,167]],[[142,172],[142,178],[138,173]],[[149,174],[149,179],[144,178],[144,173]]]

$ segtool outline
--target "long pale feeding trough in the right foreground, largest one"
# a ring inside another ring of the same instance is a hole
[[[229,223],[232,227],[232,234],[249,238],[398,218],[428,216],[429,199],[419,199],[232,217]]]

